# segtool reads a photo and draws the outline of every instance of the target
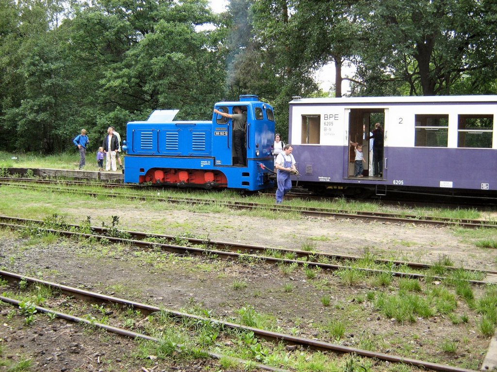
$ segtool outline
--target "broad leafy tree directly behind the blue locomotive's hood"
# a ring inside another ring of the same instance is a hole
[[[130,117],[178,108],[180,115],[210,119],[223,90],[224,66],[216,33],[196,27],[216,19],[203,0],[163,3],[158,12],[153,31],[105,72],[100,100],[107,112],[124,109]]]

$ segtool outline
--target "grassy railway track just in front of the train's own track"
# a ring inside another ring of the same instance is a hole
[[[98,196],[99,192],[95,190],[84,189],[85,184],[78,184],[83,187],[68,187],[62,186],[59,181],[47,182],[51,180],[44,180],[44,185],[39,185],[39,181],[34,179],[28,181],[30,184],[24,184],[24,179],[19,180],[1,180],[1,187],[12,187],[27,190],[40,190],[40,191],[50,191],[50,192],[66,192],[66,193],[78,193],[89,196]],[[100,184],[90,183],[92,186],[99,186]],[[112,187],[112,186],[109,186]],[[127,187],[119,185],[119,187]],[[242,202],[242,201],[222,201],[216,200],[213,202],[212,199],[202,199],[202,198],[188,198],[188,197],[177,197],[177,196],[161,196],[160,192],[149,192],[148,194],[139,195],[137,193],[126,192],[126,191],[106,191],[106,196],[112,197],[122,197],[127,199],[138,199],[138,200],[154,200],[167,203],[181,203],[189,205],[210,205],[215,203],[219,206],[224,206],[231,209],[247,209],[247,210],[269,210],[277,212],[289,212],[298,213],[310,217],[327,217],[327,218],[338,218],[338,219],[360,219],[366,221],[375,221],[382,223],[415,223],[415,224],[428,224],[435,226],[458,226],[466,228],[496,228],[496,222],[482,221],[482,220],[469,220],[469,219],[450,219],[444,217],[430,217],[422,215],[410,215],[410,214],[396,214],[396,213],[385,213],[385,212],[369,212],[369,211],[355,211],[351,213],[350,211],[328,209],[328,208],[312,208],[309,206],[290,206],[290,205],[278,205],[268,203],[253,203],[253,202]]]

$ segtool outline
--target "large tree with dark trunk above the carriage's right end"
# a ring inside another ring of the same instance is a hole
[[[362,94],[393,86],[397,94],[453,94],[463,79],[496,77],[494,1],[361,0],[356,10],[364,22]]]

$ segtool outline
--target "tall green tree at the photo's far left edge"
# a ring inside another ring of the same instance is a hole
[[[64,126],[71,84],[59,43],[60,34],[52,28],[54,11],[51,2],[27,0],[18,3],[19,23],[16,35],[2,47],[8,49],[6,61],[15,66],[6,74],[15,88],[4,93],[2,120],[12,130],[9,145],[17,149],[53,152],[59,148],[57,128]],[[15,135],[14,135],[15,133]]]

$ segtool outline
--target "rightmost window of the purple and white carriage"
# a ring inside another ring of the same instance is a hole
[[[457,147],[492,149],[493,115],[459,115]]]

